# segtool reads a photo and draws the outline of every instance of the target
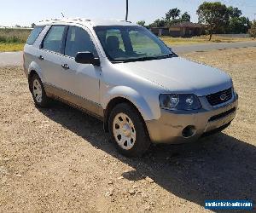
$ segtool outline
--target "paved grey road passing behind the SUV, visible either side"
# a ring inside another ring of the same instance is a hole
[[[172,46],[172,49],[177,54],[207,51],[213,49],[236,49],[256,47],[254,42],[240,42],[240,43],[202,43],[191,45]],[[0,53],[0,66],[20,66],[22,64],[22,52]]]

